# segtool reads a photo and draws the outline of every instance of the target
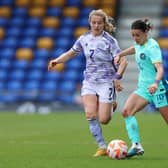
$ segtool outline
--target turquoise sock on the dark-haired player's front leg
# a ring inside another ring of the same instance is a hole
[[[138,122],[134,116],[128,116],[125,118],[125,125],[128,133],[128,137],[132,143],[140,143]]]

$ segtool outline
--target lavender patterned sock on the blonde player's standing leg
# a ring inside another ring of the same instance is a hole
[[[96,140],[99,148],[106,148],[104,138],[102,135],[102,129],[97,119],[88,119],[90,131]]]

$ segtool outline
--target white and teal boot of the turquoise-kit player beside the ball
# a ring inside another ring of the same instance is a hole
[[[128,150],[127,158],[143,155],[144,149],[141,144],[133,144],[132,147]]]

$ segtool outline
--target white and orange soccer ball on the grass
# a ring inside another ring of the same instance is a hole
[[[127,156],[128,146],[120,139],[112,140],[107,146],[107,155],[112,159],[124,159]]]

